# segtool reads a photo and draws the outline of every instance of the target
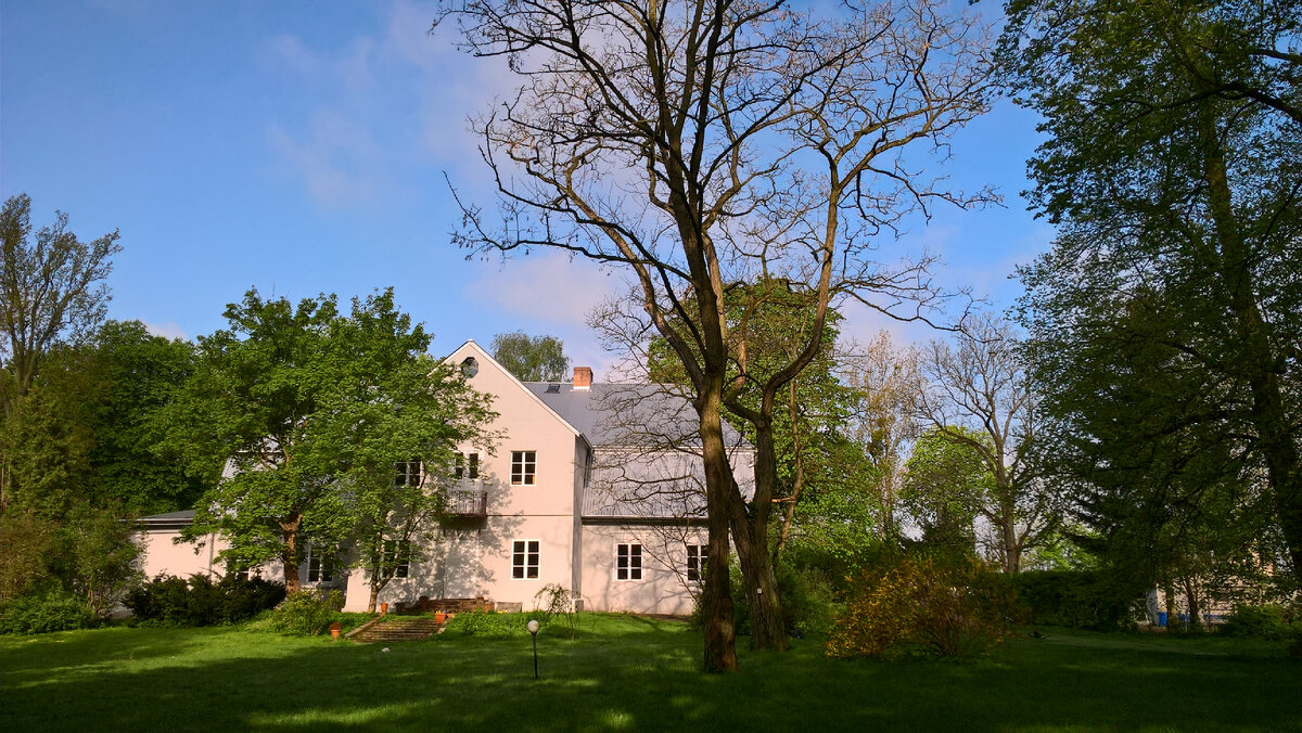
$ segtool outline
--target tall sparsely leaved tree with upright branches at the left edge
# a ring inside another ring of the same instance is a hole
[[[27,394],[40,359],[99,324],[108,305],[104,279],[121,250],[117,232],[82,242],[68,215],[31,230],[31,199],[9,198],[0,210],[0,408],[10,419]],[[8,447],[0,447],[0,512],[13,491]]]

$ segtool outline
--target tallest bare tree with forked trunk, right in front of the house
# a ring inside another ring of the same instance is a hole
[[[781,1],[474,0],[436,23],[449,18],[467,52],[505,56],[522,81],[474,124],[503,225],[464,206],[457,241],[503,253],[552,246],[629,268],[698,414],[708,562],[727,566],[730,529],[755,594],[753,642],[785,647],[767,552],[773,408],[816,355],[835,301],[910,319],[936,296],[928,258],[883,266],[875,249],[935,201],[991,198],[921,172],[986,109],[988,33],[935,0],[848,3],[835,14]],[[805,294],[812,325],[751,409],[736,398],[749,375],[737,371],[724,296],[758,280]],[[759,436],[749,503],[727,461],[725,402]],[[708,573],[703,590],[712,671],[736,668],[727,583]]]

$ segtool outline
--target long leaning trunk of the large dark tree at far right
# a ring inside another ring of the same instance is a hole
[[[1203,147],[1208,203],[1220,247],[1221,286],[1229,289],[1236,336],[1243,354],[1238,366],[1246,372],[1253,394],[1250,419],[1256,430],[1256,445],[1266,458],[1275,512],[1288,544],[1294,579],[1302,582],[1302,460],[1280,392],[1279,372],[1269,333],[1256,303],[1253,256],[1234,217],[1233,197],[1225,168],[1224,150],[1212,111],[1212,102],[1199,107],[1199,137]]]

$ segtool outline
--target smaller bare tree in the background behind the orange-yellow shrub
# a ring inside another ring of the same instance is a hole
[[[973,319],[952,348],[932,341],[922,358],[927,389],[919,417],[945,440],[966,445],[993,477],[993,491],[971,509],[996,536],[990,544],[1004,572],[1017,573],[1022,555],[1057,527],[1057,503],[1043,490],[1030,460],[1036,397],[1013,328],[1001,318]],[[966,428],[966,430],[965,430]]]

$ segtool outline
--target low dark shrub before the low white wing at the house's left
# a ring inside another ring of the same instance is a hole
[[[203,574],[189,581],[159,575],[128,594],[125,604],[138,621],[164,626],[240,624],[285,598],[284,583],[227,575],[214,583]]]

